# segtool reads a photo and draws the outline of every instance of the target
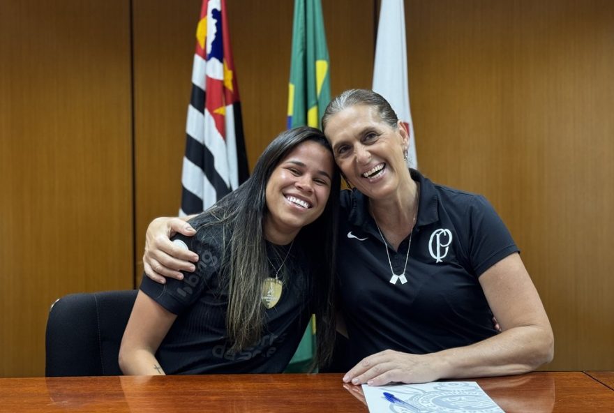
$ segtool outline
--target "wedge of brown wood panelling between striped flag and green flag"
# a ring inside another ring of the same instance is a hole
[[[286,126],[293,1],[227,1],[248,163]]]

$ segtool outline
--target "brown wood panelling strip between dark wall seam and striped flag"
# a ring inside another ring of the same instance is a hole
[[[177,216],[202,1],[133,1],[135,92],[135,285],[143,272],[147,225]]]

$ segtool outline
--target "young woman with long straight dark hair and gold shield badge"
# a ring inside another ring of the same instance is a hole
[[[253,175],[190,220],[174,244],[199,255],[165,285],[144,277],[119,352],[124,374],[278,373],[308,319],[317,358],[334,341],[339,175],[324,135],[280,134]]]

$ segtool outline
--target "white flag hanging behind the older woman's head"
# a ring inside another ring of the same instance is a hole
[[[410,87],[407,84],[407,46],[403,0],[382,0],[377,26],[373,90],[384,96],[396,116],[405,123],[410,135],[407,166],[418,167],[414,125],[410,111]]]

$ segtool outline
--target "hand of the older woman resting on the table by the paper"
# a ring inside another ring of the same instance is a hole
[[[389,382],[426,383],[442,377],[442,363],[435,354],[408,354],[394,350],[362,359],[343,377],[352,384],[382,386]]]

